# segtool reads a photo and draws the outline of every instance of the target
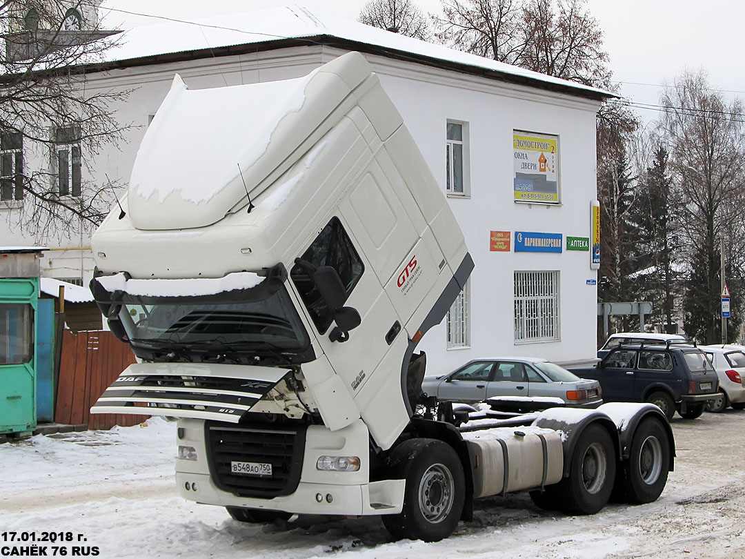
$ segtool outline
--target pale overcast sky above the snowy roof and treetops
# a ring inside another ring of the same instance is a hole
[[[440,0],[415,0],[429,12],[440,10]],[[223,13],[258,10],[290,4],[270,0],[104,0],[105,8],[198,19]],[[365,0],[297,0],[339,16],[356,19]],[[712,87],[745,97],[740,40],[745,35],[744,4],[732,0],[589,0],[589,10],[605,32],[615,80],[621,92],[641,104],[659,104],[661,84],[672,83],[685,69],[708,72]],[[160,23],[162,19],[110,12],[107,26],[121,28]],[[636,85],[638,83],[650,85]],[[659,113],[636,109],[646,121]]]

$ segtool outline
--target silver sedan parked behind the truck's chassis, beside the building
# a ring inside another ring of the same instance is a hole
[[[454,372],[424,379],[422,391],[439,402],[489,401],[503,411],[533,411],[564,405],[597,408],[600,383],[580,379],[546,359],[496,357],[469,361]]]

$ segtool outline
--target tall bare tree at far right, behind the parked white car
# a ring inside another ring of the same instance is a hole
[[[700,340],[720,339],[720,239],[726,241],[730,270],[741,263],[745,208],[744,106],[726,104],[712,90],[704,72],[685,72],[665,89],[660,123],[670,144],[670,168],[681,186],[682,236],[685,261],[685,331]],[[741,322],[745,281],[728,280],[732,291],[732,337]]]

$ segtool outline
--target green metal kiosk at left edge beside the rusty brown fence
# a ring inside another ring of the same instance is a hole
[[[0,247],[0,434],[37,426],[40,247]]]

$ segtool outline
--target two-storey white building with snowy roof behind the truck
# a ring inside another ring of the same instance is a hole
[[[606,92],[302,7],[200,24],[127,31],[108,63],[86,69],[88,92],[132,89],[116,116],[133,127],[120,150],[110,148],[80,170],[85,178],[126,183],[176,73],[190,89],[282,80],[361,51],[440,178],[476,265],[448,320],[420,344],[428,373],[484,356],[595,356],[597,274],[589,239],[595,113]],[[25,154],[26,168],[45,164]],[[0,214],[18,205],[9,200]],[[81,228],[45,253],[42,275],[88,282],[88,235]],[[0,244],[28,241],[11,225],[0,230]],[[568,250],[570,244],[584,250]]]

